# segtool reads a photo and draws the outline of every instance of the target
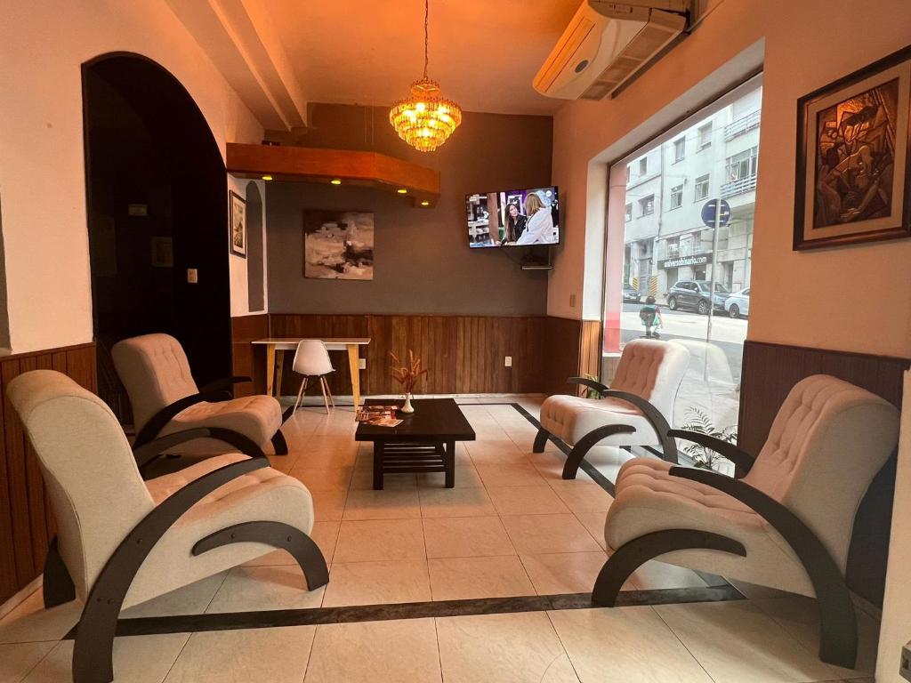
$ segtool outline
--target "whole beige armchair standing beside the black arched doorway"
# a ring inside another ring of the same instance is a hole
[[[276,454],[288,453],[278,401],[264,395],[230,398],[230,386],[249,382],[249,377],[212,382],[200,390],[189,370],[187,354],[168,334],[125,339],[114,345],[111,356],[133,408],[135,447],[169,433],[207,427],[241,433],[261,449],[271,442]],[[224,443],[209,438],[181,443],[179,452],[224,451]]]

